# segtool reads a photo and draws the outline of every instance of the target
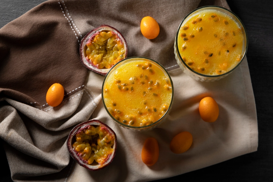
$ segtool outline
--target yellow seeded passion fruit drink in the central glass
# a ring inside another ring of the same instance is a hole
[[[158,121],[170,107],[172,84],[168,74],[152,61],[132,60],[119,65],[103,87],[109,113],[130,126]]]

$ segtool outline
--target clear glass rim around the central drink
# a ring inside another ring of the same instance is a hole
[[[141,59],[148,59],[154,63],[156,63],[157,65],[159,65],[159,67],[161,67],[165,73],[168,75],[168,77],[170,78],[170,82],[171,82],[171,85],[172,85],[172,99],[171,99],[171,102],[170,102],[170,105],[168,107],[168,110],[165,112],[165,114],[163,114],[163,116],[161,118],[159,118],[159,120],[157,120],[156,122],[150,124],[150,125],[146,125],[146,126],[130,126],[130,125],[126,125],[124,123],[121,123],[120,121],[118,121],[117,119],[115,119],[112,114],[108,111],[106,105],[105,105],[105,102],[104,102],[104,99],[103,99],[103,88],[104,88],[104,83],[106,81],[106,78],[108,77],[108,75],[110,74],[111,70],[113,70],[114,68],[116,68],[117,66],[120,65],[120,63],[123,63],[124,61],[127,61],[129,59],[136,59],[136,58],[141,58]],[[168,115],[170,109],[171,109],[171,106],[172,106],[172,103],[173,103],[173,100],[174,100],[174,85],[173,85],[173,82],[172,82],[172,79],[171,79],[171,76],[170,74],[168,73],[168,71],[160,64],[158,63],[157,61],[154,61],[153,59],[150,59],[150,58],[147,58],[147,57],[141,57],[141,56],[135,56],[135,57],[128,57],[128,58],[125,58],[119,62],[117,62],[112,68],[110,68],[110,70],[108,71],[108,73],[105,75],[104,79],[103,79],[103,83],[102,83],[102,89],[101,89],[101,99],[102,99],[102,103],[103,103],[103,106],[106,110],[106,112],[110,115],[110,117],[115,121],[117,122],[118,124],[124,126],[125,128],[130,128],[130,129],[146,129],[146,128],[150,128],[154,125],[156,125],[157,123],[159,123],[162,119],[165,118],[166,115]]]

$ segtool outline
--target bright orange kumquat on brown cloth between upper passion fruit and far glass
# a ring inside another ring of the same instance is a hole
[[[142,35],[147,39],[154,39],[159,34],[159,25],[152,17],[144,17],[140,23]]]

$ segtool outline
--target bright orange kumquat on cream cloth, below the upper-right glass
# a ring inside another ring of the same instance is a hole
[[[214,122],[219,116],[219,107],[211,97],[203,98],[199,103],[199,113],[206,122]]]

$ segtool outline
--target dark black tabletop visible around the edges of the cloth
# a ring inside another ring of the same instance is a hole
[[[0,28],[45,0],[0,0]],[[273,1],[227,0],[248,33],[247,61],[258,117],[258,151],[161,181],[273,181]],[[0,139],[0,182],[12,181]],[[19,164],[18,164],[19,165]]]

